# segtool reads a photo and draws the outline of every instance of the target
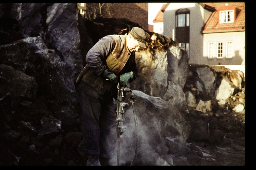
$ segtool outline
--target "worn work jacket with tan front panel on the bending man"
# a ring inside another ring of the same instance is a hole
[[[133,72],[134,81],[137,77],[135,62],[135,52],[130,52],[127,48],[127,34],[108,35],[101,38],[86,55],[87,65],[79,74],[76,82],[82,78],[86,84],[104,94],[110,82],[102,76],[105,69],[109,69],[117,76],[124,73]]]

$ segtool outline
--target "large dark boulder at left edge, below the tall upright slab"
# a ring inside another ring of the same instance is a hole
[[[0,46],[0,64],[34,77],[41,92],[56,103],[76,101],[74,83],[68,76],[66,63],[54,50],[49,50],[39,36]]]

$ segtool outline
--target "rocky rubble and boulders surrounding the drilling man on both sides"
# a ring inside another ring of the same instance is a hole
[[[85,165],[74,80],[97,39],[138,24],[83,21],[75,3],[0,4],[0,22],[0,165]],[[137,101],[135,165],[245,165],[243,72],[190,64],[170,37],[147,34],[129,84]],[[130,165],[131,104],[125,123],[120,158]]]

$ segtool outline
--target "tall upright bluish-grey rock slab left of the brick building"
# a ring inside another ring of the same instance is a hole
[[[46,44],[56,49],[72,80],[83,68],[77,20],[76,3],[54,3],[47,7]]]

